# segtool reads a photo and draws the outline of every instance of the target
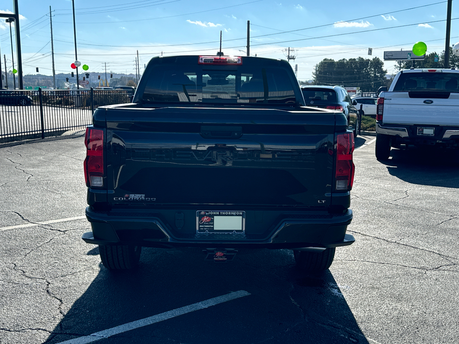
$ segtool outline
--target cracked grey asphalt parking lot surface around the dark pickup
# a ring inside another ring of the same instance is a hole
[[[0,146],[0,343],[459,343],[458,167],[415,149],[382,163],[373,139],[356,139],[356,242],[312,275],[290,250],[144,248],[108,272],[80,239],[83,138]]]

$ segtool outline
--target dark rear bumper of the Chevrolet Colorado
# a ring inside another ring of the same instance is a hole
[[[184,213],[185,220],[196,221],[190,216],[187,219],[186,211]],[[250,233],[251,227],[255,227],[250,221],[246,221],[246,233],[196,233],[196,229],[179,231],[174,223],[167,221],[164,211],[94,211],[87,207],[86,217],[92,232],[84,233],[82,239],[88,244],[101,245],[235,249],[328,248],[347,246],[355,241],[352,235],[346,234],[353,218],[351,210],[338,215],[306,211],[278,213],[265,214],[275,216],[275,220],[257,233]]]

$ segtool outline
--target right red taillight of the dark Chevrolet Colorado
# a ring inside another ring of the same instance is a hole
[[[352,161],[354,134],[339,134],[336,146],[336,190],[350,190],[354,183],[355,166]]]

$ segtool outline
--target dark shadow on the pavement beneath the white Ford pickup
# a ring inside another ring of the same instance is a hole
[[[452,150],[419,149],[391,150],[392,159],[380,161],[387,171],[405,182],[459,188],[459,155]]]

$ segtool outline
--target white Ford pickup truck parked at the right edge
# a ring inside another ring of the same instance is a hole
[[[459,70],[409,69],[380,93],[376,158],[389,158],[401,144],[459,146]]]

